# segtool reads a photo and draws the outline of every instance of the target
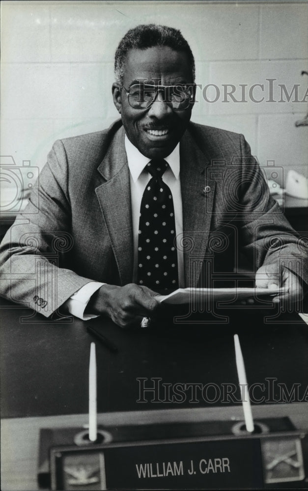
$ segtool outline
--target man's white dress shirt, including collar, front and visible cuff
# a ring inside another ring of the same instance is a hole
[[[151,179],[151,175],[144,169],[146,164],[151,159],[145,157],[140,153],[128,137],[125,135],[125,151],[127,155],[127,162],[130,171],[130,187],[131,187],[131,203],[132,203],[132,220],[133,220],[133,240],[134,240],[134,269],[133,269],[133,282],[137,280],[137,264],[138,264],[138,230],[139,230],[139,217],[140,217],[140,205],[145,186]],[[178,143],[168,157],[165,157],[169,166],[163,174],[163,181],[169,186],[174,206],[174,218],[175,218],[175,231],[176,236],[179,236],[183,232],[183,213],[182,213],[182,195],[181,195],[181,182],[180,182],[180,144]],[[183,252],[177,250],[178,260],[178,276],[179,287],[184,287],[184,259]],[[82,320],[92,319],[97,317],[94,314],[84,314],[84,310],[91,298],[91,296],[106,283],[100,283],[98,281],[90,281],[72,295],[65,302],[66,309],[74,316],[79,317]]]

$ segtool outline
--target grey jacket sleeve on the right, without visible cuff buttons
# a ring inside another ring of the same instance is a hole
[[[271,197],[261,169],[241,135],[239,243],[253,259],[255,269],[263,264],[280,263],[308,283],[308,248],[304,237],[284,217]],[[236,186],[233,188],[237,189]]]

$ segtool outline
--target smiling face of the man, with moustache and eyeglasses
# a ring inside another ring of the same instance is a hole
[[[194,68],[188,53],[168,46],[130,49],[124,73],[112,86],[126,136],[150,159],[168,157],[190,121]]]

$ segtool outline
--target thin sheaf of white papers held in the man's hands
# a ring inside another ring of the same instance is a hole
[[[162,303],[190,303],[192,301],[225,301],[258,299],[262,296],[274,296],[285,292],[285,288],[179,288],[169,295],[159,295],[156,299]]]

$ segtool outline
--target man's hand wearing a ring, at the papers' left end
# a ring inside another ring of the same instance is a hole
[[[135,283],[103,285],[91,297],[86,310],[93,314],[106,314],[120,327],[140,325],[142,317],[150,317],[157,309],[157,295],[146,286]]]

